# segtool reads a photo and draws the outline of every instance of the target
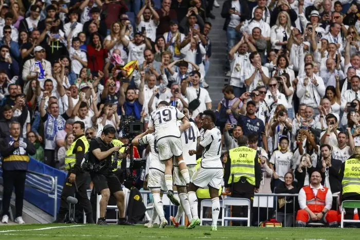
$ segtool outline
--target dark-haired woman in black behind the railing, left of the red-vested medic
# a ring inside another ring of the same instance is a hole
[[[284,183],[275,188],[275,193],[278,194],[297,194],[298,192],[297,188],[294,187],[294,175],[292,172],[286,173],[284,176]],[[294,225],[294,201],[295,197],[277,198],[278,210],[277,213],[274,213],[273,217],[276,217],[276,220],[280,221],[283,227],[293,227]]]

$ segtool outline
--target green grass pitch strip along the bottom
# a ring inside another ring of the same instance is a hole
[[[155,225],[156,226],[156,225]],[[156,226],[157,227],[157,226]],[[259,228],[198,226],[188,230],[183,227],[165,229],[136,226],[97,225],[2,225],[0,239],[27,240],[92,240],[92,239],[360,239],[360,230],[354,228]]]

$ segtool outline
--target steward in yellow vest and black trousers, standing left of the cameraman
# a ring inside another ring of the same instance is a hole
[[[69,206],[66,201],[68,196],[78,198],[79,204],[83,207],[86,220],[90,224],[94,224],[93,210],[90,200],[87,198],[87,173],[81,169],[81,162],[84,154],[89,150],[89,143],[84,135],[85,124],[82,121],[76,121],[73,124],[73,135],[75,136],[73,144],[66,151],[65,169],[68,171],[66,181],[61,193],[61,203],[56,223],[64,223],[65,216],[68,213]]]

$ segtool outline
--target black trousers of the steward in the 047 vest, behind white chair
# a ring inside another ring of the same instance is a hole
[[[250,223],[253,220],[253,204],[254,204],[254,186],[247,181],[244,183],[234,183],[235,191],[232,191],[231,197],[247,198],[250,200]],[[247,207],[232,206],[233,217],[247,217]],[[232,226],[247,226],[244,221],[232,221]]]

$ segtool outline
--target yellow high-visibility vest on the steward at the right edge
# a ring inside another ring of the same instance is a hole
[[[350,158],[345,161],[343,181],[343,194],[360,194],[360,159]]]

